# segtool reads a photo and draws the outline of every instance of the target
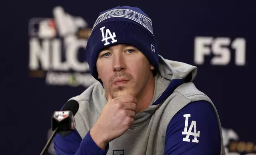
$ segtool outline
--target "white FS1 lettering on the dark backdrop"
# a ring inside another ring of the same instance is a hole
[[[210,63],[212,65],[227,65],[231,62],[231,56],[235,57],[235,65],[244,66],[246,63],[246,41],[244,38],[213,38],[196,37],[194,40],[194,63],[205,63],[205,57],[213,54]]]

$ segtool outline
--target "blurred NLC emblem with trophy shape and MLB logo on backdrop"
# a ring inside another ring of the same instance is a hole
[[[96,81],[84,54],[91,28],[60,6],[53,9],[53,17],[29,20],[30,76],[46,77],[48,85],[89,87]]]

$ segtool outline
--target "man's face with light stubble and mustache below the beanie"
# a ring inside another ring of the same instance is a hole
[[[98,78],[107,95],[112,98],[124,94],[137,96],[153,76],[154,67],[136,47],[119,44],[103,49],[97,59]]]

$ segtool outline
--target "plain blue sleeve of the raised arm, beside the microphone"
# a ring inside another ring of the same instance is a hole
[[[109,144],[105,150],[98,147],[90,132],[82,140],[76,129],[65,137],[56,134],[53,144],[55,155],[106,155],[109,150]]]

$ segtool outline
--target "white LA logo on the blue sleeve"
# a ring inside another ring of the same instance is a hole
[[[186,137],[183,138],[183,141],[190,142],[189,137],[194,136],[194,139],[192,140],[192,142],[198,143],[199,140],[197,140],[197,137],[200,136],[200,131],[196,131],[196,121],[192,121],[188,129],[188,117],[190,117],[190,114],[184,114],[183,117],[185,117],[185,127],[184,127],[184,131],[182,131],[181,134],[186,135]],[[193,127],[194,127],[194,132],[192,132]]]

